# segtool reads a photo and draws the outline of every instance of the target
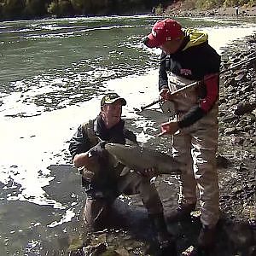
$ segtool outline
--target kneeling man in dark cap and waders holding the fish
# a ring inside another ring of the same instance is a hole
[[[87,195],[84,221],[93,228],[102,228],[109,218],[109,208],[119,195],[140,194],[148,210],[157,243],[161,249],[172,250],[168,255],[176,255],[173,238],[166,228],[160,196],[154,183],[150,183],[154,170],[145,170],[143,175],[126,172],[120,176],[127,167],[121,164],[114,166],[109,162],[108,151],[102,148],[102,143],[98,143],[99,137],[109,143],[125,144],[125,140],[129,140],[137,144],[136,135],[125,128],[125,121],[121,119],[122,107],[125,105],[125,99],[116,93],[103,96],[100,114],[96,119],[80,125],[70,141],[73,164],[82,174]]]

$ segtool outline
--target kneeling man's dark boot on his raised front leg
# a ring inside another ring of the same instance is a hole
[[[172,234],[170,234],[166,227],[166,221],[163,213],[148,214],[154,231],[154,240],[160,249],[160,255],[176,256],[176,243]]]

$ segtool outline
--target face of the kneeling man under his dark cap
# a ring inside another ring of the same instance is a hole
[[[119,123],[122,114],[122,107],[120,100],[113,102],[112,104],[103,105],[102,115],[108,124],[108,128]]]

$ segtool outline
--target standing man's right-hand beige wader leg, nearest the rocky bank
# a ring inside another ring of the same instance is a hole
[[[219,218],[219,189],[216,165],[218,125],[198,129],[193,135],[193,158],[195,179],[199,189],[201,223],[215,226]]]

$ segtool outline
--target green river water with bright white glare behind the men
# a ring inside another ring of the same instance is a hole
[[[84,191],[68,140],[80,123],[96,116],[105,92],[126,98],[123,117],[141,143],[167,150],[165,139],[154,138],[166,116],[157,106],[137,111],[158,96],[160,50],[140,42],[155,20],[0,23],[0,255],[66,255],[82,236]],[[248,19],[177,20],[207,31],[219,54],[256,31],[255,20]],[[168,177],[164,181],[166,189],[177,189]],[[132,205],[131,198],[124,201]]]

